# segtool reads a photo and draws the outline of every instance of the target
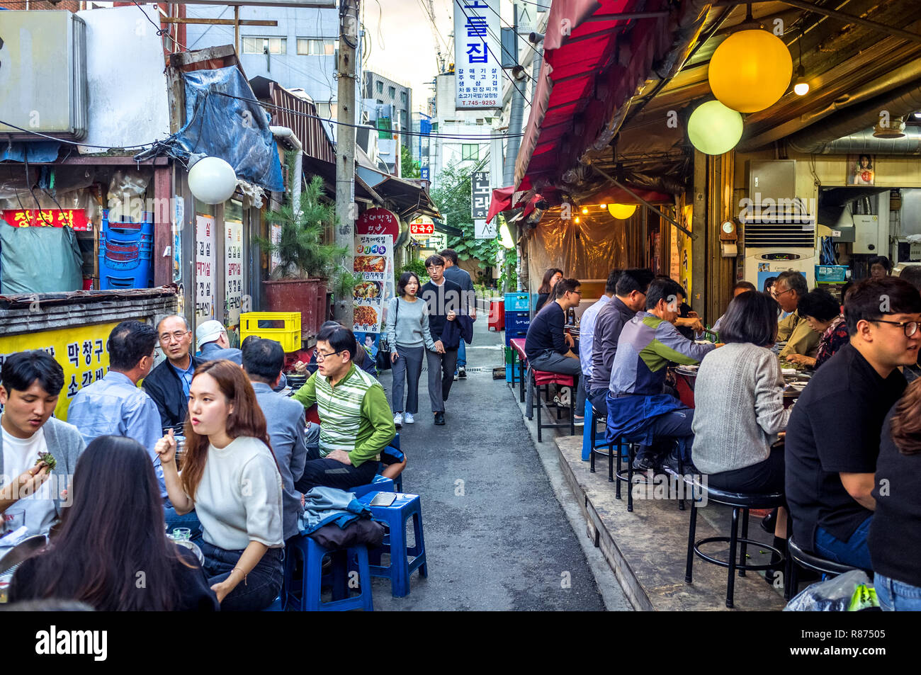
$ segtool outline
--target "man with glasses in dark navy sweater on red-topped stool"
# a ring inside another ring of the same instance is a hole
[[[585,410],[585,382],[579,378],[582,369],[578,360],[578,344],[572,336],[564,332],[566,311],[578,307],[582,301],[581,285],[576,279],[560,279],[554,286],[556,299],[548,302],[530,321],[528,335],[525,337],[524,353],[528,356],[528,366],[532,370],[544,370],[549,373],[562,373],[578,378],[576,399],[576,416],[582,418]],[[534,392],[528,385],[528,402],[525,406],[530,414]]]

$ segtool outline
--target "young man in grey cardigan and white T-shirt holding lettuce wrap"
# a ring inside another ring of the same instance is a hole
[[[48,534],[73,501],[70,479],[86,447],[76,426],[52,417],[64,369],[45,352],[18,352],[4,359],[0,380],[2,534],[23,527],[24,536]],[[37,463],[44,453],[53,468]]]

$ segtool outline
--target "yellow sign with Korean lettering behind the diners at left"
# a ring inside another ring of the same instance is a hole
[[[67,408],[76,392],[109,372],[109,333],[118,325],[98,323],[52,331],[0,336],[0,365],[7,356],[31,349],[41,349],[64,368],[64,389],[54,408],[54,416],[67,419]]]

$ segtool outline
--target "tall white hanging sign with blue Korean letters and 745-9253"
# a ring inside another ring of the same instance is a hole
[[[455,107],[501,108],[499,0],[454,0]]]

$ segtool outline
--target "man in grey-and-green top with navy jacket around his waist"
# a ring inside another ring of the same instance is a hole
[[[716,345],[694,343],[675,328],[683,297],[681,285],[668,278],[653,279],[646,292],[646,311],[637,312],[624,325],[617,342],[607,395],[606,437],[609,442],[619,436],[638,442],[642,448],[634,468],[640,471],[661,464],[677,475],[679,458],[686,471],[694,471],[690,443],[694,411],[663,392],[666,367],[672,361],[700,363]],[[664,457],[671,445],[676,447]]]

